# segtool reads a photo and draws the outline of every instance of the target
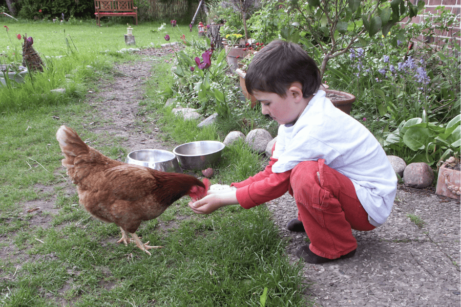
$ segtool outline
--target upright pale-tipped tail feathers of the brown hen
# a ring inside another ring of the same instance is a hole
[[[62,159],[62,166],[66,168],[74,166],[76,156],[90,151],[90,147],[80,139],[78,134],[73,129],[64,125],[57,130],[56,139],[65,157],[65,159]]]

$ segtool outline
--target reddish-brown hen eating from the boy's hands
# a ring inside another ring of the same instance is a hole
[[[117,243],[134,240],[149,255],[148,249],[161,246],[141,242],[135,233],[141,222],[156,218],[184,195],[198,200],[208,190],[206,178],[202,182],[187,174],[112,160],[85,144],[69,127],[61,126],[56,139],[65,156],[62,165],[77,185],[79,203],[98,220],[120,227],[122,237]]]

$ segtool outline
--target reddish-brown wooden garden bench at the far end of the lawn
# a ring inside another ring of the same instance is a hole
[[[133,6],[133,0],[94,0],[96,25],[101,26],[100,19],[104,16],[133,16],[138,24],[138,8]]]

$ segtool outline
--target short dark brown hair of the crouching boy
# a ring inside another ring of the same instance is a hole
[[[303,97],[315,94],[321,85],[317,63],[300,46],[283,40],[273,40],[258,51],[248,66],[245,86],[253,91],[286,96],[293,82],[303,86]]]

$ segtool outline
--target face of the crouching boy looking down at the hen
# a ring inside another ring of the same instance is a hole
[[[291,86],[286,91],[286,97],[260,91],[254,91],[253,96],[261,102],[262,114],[269,115],[281,125],[296,122],[306,107],[300,103],[302,92],[298,87]]]

